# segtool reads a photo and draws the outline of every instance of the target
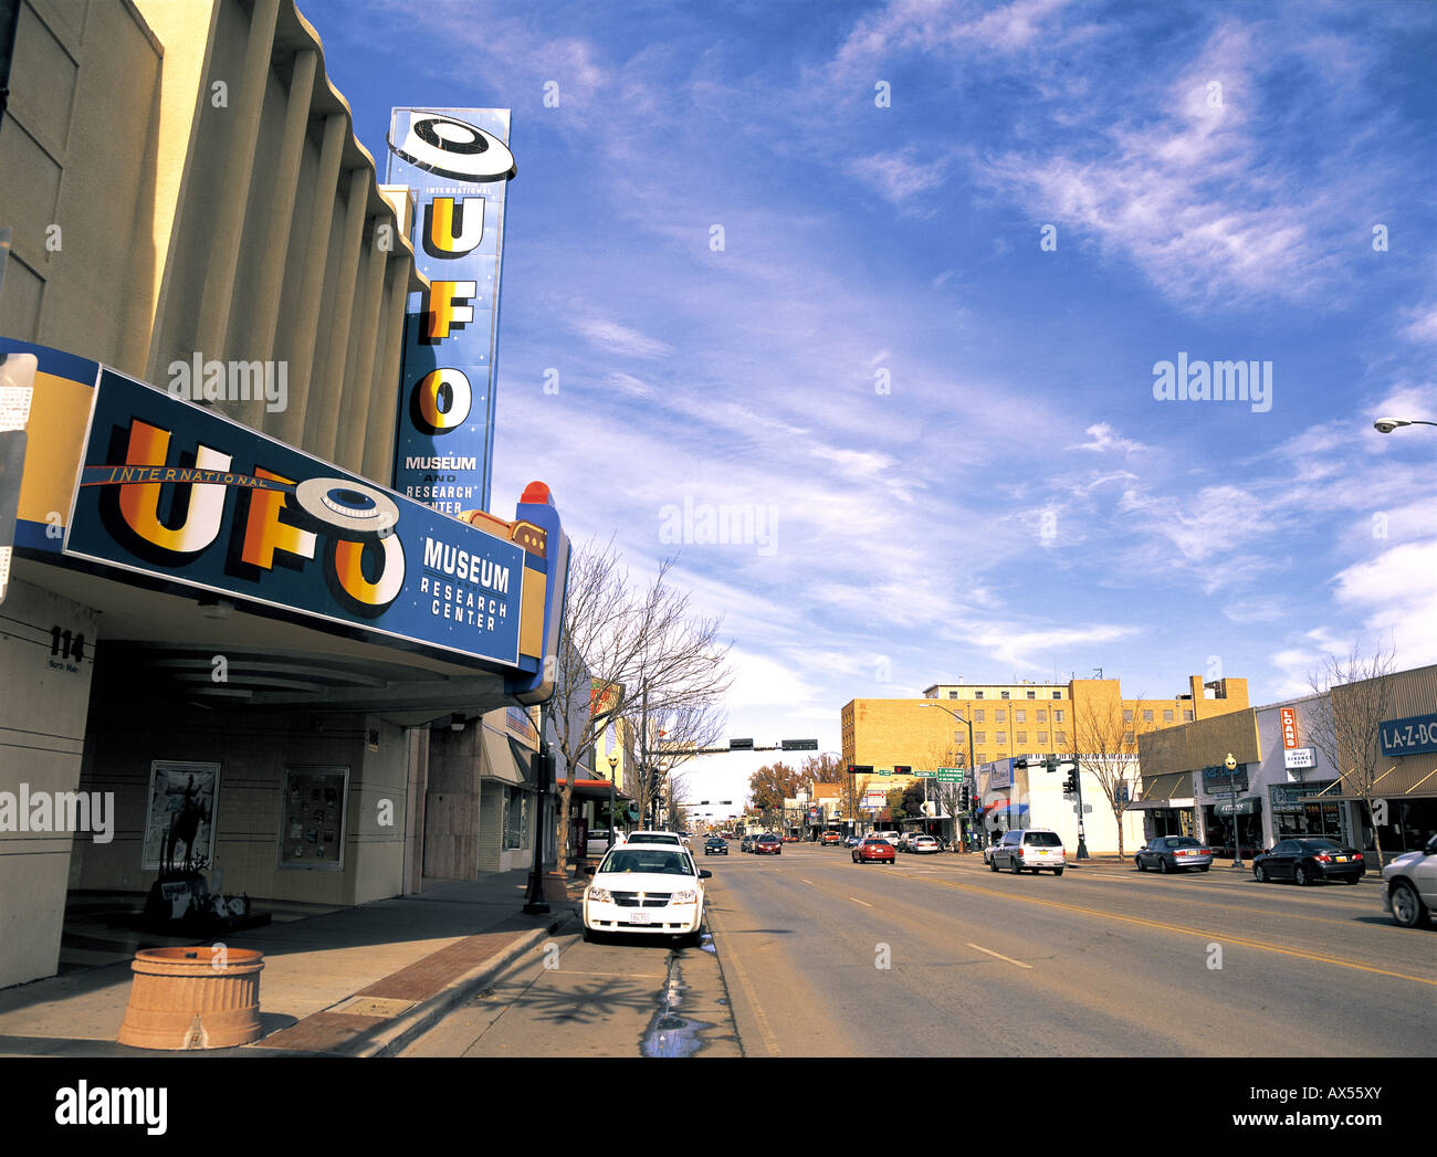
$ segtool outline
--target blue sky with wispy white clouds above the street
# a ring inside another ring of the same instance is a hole
[[[576,542],[678,549],[730,734],[1437,663],[1437,428],[1372,428],[1437,420],[1437,7],[300,10],[381,172],[391,106],[513,109],[496,512],[543,479]],[[1270,408],[1157,400],[1180,352]],[[752,540],[670,545],[685,502]]]

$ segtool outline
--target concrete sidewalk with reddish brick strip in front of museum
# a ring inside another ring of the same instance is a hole
[[[578,927],[582,882],[550,900],[549,916],[525,916],[526,882],[523,871],[425,880],[420,895],[234,934],[227,947],[264,953],[263,1036],[185,1055],[397,1055],[516,959]],[[177,1055],[116,1043],[131,976],[125,960],[0,990],[0,1056]]]

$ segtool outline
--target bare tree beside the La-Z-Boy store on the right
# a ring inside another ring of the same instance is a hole
[[[1382,832],[1377,824],[1377,780],[1385,775],[1382,746],[1378,732],[1391,714],[1395,644],[1378,642],[1372,654],[1364,654],[1354,642],[1346,657],[1329,654],[1308,676],[1308,686],[1321,699],[1312,704],[1308,736],[1315,747],[1342,776],[1344,790],[1361,796],[1367,813],[1372,816],[1372,842],[1377,864],[1382,865]],[[1361,839],[1361,836],[1357,836]]]

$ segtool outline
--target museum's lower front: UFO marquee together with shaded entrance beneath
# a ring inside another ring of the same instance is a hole
[[[142,895],[168,867],[358,904],[530,862],[533,739],[506,720],[550,693],[569,548],[546,487],[460,520],[108,367],[13,354],[36,372],[0,724],[49,739],[0,801],[112,806],[103,832],[0,831],[0,985],[53,972],[70,888]]]

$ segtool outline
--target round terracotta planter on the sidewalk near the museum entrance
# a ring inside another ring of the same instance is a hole
[[[250,949],[135,953],[119,1043],[139,1049],[227,1049],[260,1035],[260,970]]]

